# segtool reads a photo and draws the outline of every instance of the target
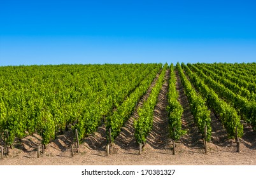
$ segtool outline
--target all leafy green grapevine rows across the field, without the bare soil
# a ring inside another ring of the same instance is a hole
[[[221,121],[230,138],[243,136],[245,120],[256,130],[256,64],[104,64],[31,65],[0,67],[0,136],[6,144],[26,135],[40,134],[48,144],[67,126],[78,130],[81,141],[103,123],[111,141],[131,116],[139,100],[157,78],[148,99],[138,108],[134,137],[145,143],[152,130],[153,112],[168,80],[167,113],[171,138],[186,133],[181,128],[183,107],[176,90],[176,72],[201,134],[210,112]],[[170,76],[167,76],[169,70]]]

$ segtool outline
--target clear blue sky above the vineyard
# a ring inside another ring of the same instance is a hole
[[[256,62],[256,1],[0,0],[0,65]]]

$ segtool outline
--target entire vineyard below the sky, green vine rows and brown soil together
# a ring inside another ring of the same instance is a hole
[[[0,165],[255,165],[256,64],[0,67],[0,146]]]

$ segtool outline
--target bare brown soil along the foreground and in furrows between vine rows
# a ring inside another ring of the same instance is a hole
[[[244,124],[244,135],[240,141],[240,152],[237,152],[235,140],[227,138],[227,133],[221,123],[211,112],[212,137],[208,142],[208,153],[205,154],[202,135],[199,134],[193,116],[190,112],[187,96],[176,72],[176,89],[179,101],[183,106],[182,128],[187,130],[179,141],[176,141],[173,154],[173,140],[169,139],[167,124],[167,88],[169,70],[166,71],[166,81],[160,91],[157,106],[153,115],[153,128],[148,134],[143,152],[139,155],[139,146],[133,136],[133,121],[138,119],[138,107],[150,94],[155,85],[154,79],[146,94],[138,102],[134,113],[122,128],[110,146],[110,155],[106,156],[106,129],[104,124],[95,134],[83,140],[78,153],[74,144],[74,156],[71,156],[73,131],[69,128],[63,135],[57,136],[46,146],[44,153],[37,158],[37,147],[41,137],[34,134],[22,140],[17,140],[13,149],[8,149],[0,165],[256,165],[256,133]]]

